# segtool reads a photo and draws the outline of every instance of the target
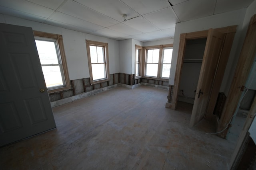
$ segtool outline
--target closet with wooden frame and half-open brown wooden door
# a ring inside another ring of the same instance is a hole
[[[235,33],[236,25],[180,34],[169,107],[176,109],[178,100],[194,103],[190,127],[204,117],[218,121],[213,111]]]

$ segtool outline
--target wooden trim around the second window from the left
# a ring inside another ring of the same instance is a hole
[[[106,63],[106,78],[99,79],[99,80],[93,80],[92,79],[92,62],[90,57],[90,45],[95,46],[101,46],[104,47],[104,53],[105,53],[105,63]],[[102,43],[98,41],[91,41],[86,39],[86,51],[87,51],[87,58],[88,58],[88,66],[89,66],[89,73],[90,73],[90,84],[96,84],[96,83],[102,83],[110,80],[109,75],[109,61],[108,61],[108,43]]]

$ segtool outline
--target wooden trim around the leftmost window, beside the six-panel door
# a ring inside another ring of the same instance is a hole
[[[68,66],[67,66],[67,62],[66,62],[66,55],[65,55],[65,51],[64,51],[62,35],[46,33],[46,32],[41,32],[41,31],[35,31],[35,30],[33,30],[33,32],[34,32],[35,37],[56,39],[56,41],[58,42],[58,48],[59,48],[59,52],[60,52],[60,59],[61,59],[61,65],[62,65],[63,74],[64,74],[63,78],[64,78],[65,85],[61,86],[61,87],[51,88],[50,90],[48,90],[48,93],[50,94],[50,93],[70,89],[71,88],[70,78],[69,78],[69,74],[68,74]]]

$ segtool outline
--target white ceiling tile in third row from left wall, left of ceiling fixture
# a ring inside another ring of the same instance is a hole
[[[102,27],[109,27],[118,23],[118,21],[112,18],[104,16],[71,0],[66,2],[60,9],[58,9],[58,11],[85,21],[89,21],[91,23],[95,23],[97,25],[101,25]]]

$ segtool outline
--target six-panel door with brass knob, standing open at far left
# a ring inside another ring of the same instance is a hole
[[[55,127],[32,28],[0,23],[0,146]]]

